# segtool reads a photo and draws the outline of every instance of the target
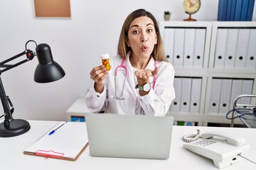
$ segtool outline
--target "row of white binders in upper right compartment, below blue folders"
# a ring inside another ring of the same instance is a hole
[[[256,28],[218,28],[214,68],[256,69]]]

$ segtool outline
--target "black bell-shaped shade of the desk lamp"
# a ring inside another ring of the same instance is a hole
[[[65,72],[60,65],[53,61],[53,55],[50,51],[50,46],[40,44],[36,47],[38,57],[38,66],[34,74],[34,81],[38,83],[48,83],[56,81],[65,76]]]

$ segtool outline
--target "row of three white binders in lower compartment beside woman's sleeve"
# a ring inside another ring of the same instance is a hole
[[[171,113],[199,113],[202,78],[175,77],[176,98],[171,104]]]

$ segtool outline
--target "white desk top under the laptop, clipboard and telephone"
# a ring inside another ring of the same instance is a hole
[[[2,121],[2,120],[1,120]],[[225,130],[242,135],[250,144],[250,150],[242,155],[256,162],[256,129],[248,128],[210,128],[210,127],[186,127],[174,126],[171,140],[171,154],[167,160],[155,159],[124,159],[124,158],[104,158],[90,157],[89,148],[85,149],[77,161],[70,162],[60,159],[46,159],[23,154],[24,149],[31,146],[36,140],[43,136],[50,128],[58,122],[55,121],[29,121],[31,130],[17,137],[0,138],[0,167],[1,169],[132,169],[132,170],[160,170],[160,169],[217,169],[212,160],[193,154],[183,149],[181,137],[188,133],[195,133],[197,129],[202,132],[208,130]],[[79,131],[78,131],[79,132]],[[237,164],[225,168],[228,169],[256,169],[256,165],[242,159]]]

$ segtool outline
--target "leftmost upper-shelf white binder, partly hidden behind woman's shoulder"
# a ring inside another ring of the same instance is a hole
[[[164,50],[169,62],[174,63],[174,28],[164,29]]]

